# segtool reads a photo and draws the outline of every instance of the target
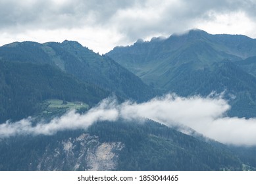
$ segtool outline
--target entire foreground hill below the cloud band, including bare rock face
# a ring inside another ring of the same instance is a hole
[[[240,158],[224,145],[151,121],[11,137],[0,141],[0,154],[0,170],[242,170]]]

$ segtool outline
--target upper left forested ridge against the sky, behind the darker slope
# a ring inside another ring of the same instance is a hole
[[[11,43],[0,47],[0,58],[57,66],[78,80],[97,85],[123,99],[145,101],[155,95],[153,89],[114,60],[97,55],[76,41]]]

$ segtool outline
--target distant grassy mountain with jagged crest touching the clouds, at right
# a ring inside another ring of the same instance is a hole
[[[213,62],[241,60],[255,53],[255,39],[190,30],[187,34],[174,34],[167,39],[153,38],[127,47],[115,47],[107,55],[146,83],[169,90],[165,87],[166,80],[173,78],[173,72],[182,64],[191,63],[192,70],[196,71]]]

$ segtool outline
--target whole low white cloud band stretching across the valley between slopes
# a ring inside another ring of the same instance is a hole
[[[149,118],[170,127],[191,127],[221,143],[256,145],[256,119],[227,117],[225,114],[229,109],[230,106],[221,96],[184,98],[172,94],[141,104],[129,101],[118,104],[115,99],[109,98],[91,108],[86,114],[80,115],[71,111],[47,124],[32,126],[30,118],[14,123],[6,122],[0,125],[0,137],[24,134],[52,135],[66,129],[86,129],[98,121],[124,119],[128,122],[140,122]]]

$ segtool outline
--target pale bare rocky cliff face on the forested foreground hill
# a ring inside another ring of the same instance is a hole
[[[38,170],[115,170],[120,142],[100,143],[97,136],[82,133],[47,147],[39,159]]]

